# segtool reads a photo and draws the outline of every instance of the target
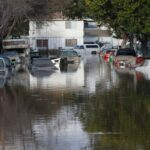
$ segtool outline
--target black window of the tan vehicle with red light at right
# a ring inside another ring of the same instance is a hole
[[[119,49],[117,51],[117,55],[116,56],[120,56],[120,55],[123,55],[123,56],[136,56],[136,53],[134,50],[132,49]]]

